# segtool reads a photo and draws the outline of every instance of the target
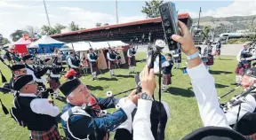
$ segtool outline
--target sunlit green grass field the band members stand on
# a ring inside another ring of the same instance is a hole
[[[137,59],[142,59],[144,57],[145,53],[137,55]],[[230,86],[230,83],[235,81],[234,70],[237,63],[235,57],[222,58],[223,59],[221,60],[216,59],[214,61],[214,66],[212,66],[210,70],[210,73],[215,78],[216,89],[219,96],[235,88],[235,86]],[[143,66],[145,66],[145,63],[137,63],[136,71],[140,71]],[[185,59],[182,59],[182,66],[185,66]],[[11,73],[7,70],[6,66],[1,63],[0,68],[9,79]],[[91,75],[84,76],[84,79],[81,78],[81,80],[84,84],[90,85],[89,88],[92,93],[99,97],[106,97],[106,91],[109,89],[115,94],[126,89],[134,88],[134,78],[133,76],[129,76],[127,69],[118,69],[115,71],[115,74],[116,81],[110,80],[109,73],[98,75],[100,81],[92,81]],[[170,105],[171,113],[171,117],[169,118],[165,129],[166,140],[178,140],[183,136],[186,136],[192,130],[202,127],[196,98],[194,96],[193,89],[189,84],[188,75],[182,74],[180,69],[173,69],[172,74],[174,76],[172,77],[172,85],[168,89],[169,92],[162,94],[163,100]],[[62,77],[61,82],[64,80],[65,79]],[[156,93],[157,91],[158,90],[156,89]],[[129,93],[126,95],[128,94]],[[157,94],[156,99],[158,99]],[[12,106],[13,96],[11,94],[4,95],[0,93],[0,97],[4,102],[4,105],[9,109]],[[231,95],[225,97],[224,100],[227,100],[230,97]],[[57,105],[60,108],[64,105],[64,103],[60,101],[55,102],[57,102]],[[2,110],[0,110],[0,124],[0,140],[28,140],[28,129],[20,128],[20,126],[12,120],[10,114],[4,115]],[[64,136],[60,124],[59,130],[60,135]]]

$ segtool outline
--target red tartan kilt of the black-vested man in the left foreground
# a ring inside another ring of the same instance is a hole
[[[61,140],[60,133],[56,126],[47,131],[31,131],[33,140]]]

